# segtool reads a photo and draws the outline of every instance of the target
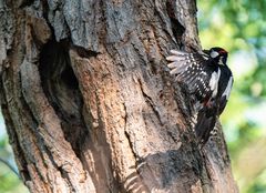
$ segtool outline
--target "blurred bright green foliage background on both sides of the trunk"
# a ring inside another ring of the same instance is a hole
[[[202,45],[229,52],[234,89],[222,115],[241,193],[266,193],[266,0],[198,0]],[[1,115],[0,115],[1,116]],[[0,158],[13,156],[0,119]],[[0,192],[28,192],[0,162]]]

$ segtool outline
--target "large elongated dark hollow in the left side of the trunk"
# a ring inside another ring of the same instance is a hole
[[[44,44],[40,53],[39,71],[43,91],[61,119],[64,136],[80,156],[89,130],[83,121],[83,99],[71,67],[68,42],[50,40]]]

